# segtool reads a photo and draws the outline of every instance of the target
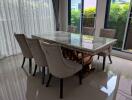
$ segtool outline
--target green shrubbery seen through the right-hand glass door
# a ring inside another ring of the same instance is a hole
[[[111,4],[111,10],[108,20],[108,28],[116,29],[116,38],[118,39],[117,48],[122,47],[126,21],[129,11],[129,4]]]

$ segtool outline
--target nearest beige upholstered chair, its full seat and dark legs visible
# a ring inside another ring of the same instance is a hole
[[[61,49],[57,45],[41,43],[42,49],[46,55],[48,68],[50,72],[49,80],[46,87],[49,86],[52,75],[60,79],[60,98],[63,98],[63,79],[70,77],[77,72],[79,74],[79,82],[82,83],[81,70],[82,66],[71,60],[64,59]]]

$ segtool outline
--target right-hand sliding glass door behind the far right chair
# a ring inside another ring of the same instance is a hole
[[[130,0],[108,0],[106,10],[105,28],[116,29],[115,48],[124,49],[124,37],[130,9]]]

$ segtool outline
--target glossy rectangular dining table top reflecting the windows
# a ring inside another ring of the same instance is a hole
[[[76,50],[82,53],[89,54],[91,57],[100,52],[108,50],[117,39],[83,35],[79,33],[70,33],[64,31],[45,32],[43,34],[32,35],[32,38],[40,41],[54,43],[61,47]],[[83,65],[83,60],[82,60]]]

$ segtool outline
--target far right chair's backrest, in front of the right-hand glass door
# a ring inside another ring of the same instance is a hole
[[[106,38],[115,38],[116,30],[115,29],[101,29],[100,36]]]

